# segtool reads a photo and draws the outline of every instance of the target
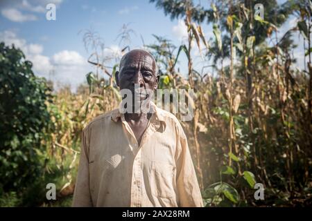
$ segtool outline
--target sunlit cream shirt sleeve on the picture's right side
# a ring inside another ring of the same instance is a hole
[[[196,172],[189,152],[187,137],[182,126],[179,125],[179,136],[177,137],[177,150],[179,150],[177,166],[177,194],[178,206],[202,207],[202,195],[198,185]]]

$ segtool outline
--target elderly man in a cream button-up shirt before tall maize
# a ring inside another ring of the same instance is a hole
[[[117,86],[130,90],[132,100],[135,85],[155,90],[158,80],[155,59],[145,50],[125,54],[116,72]],[[116,108],[83,130],[73,206],[202,206],[179,121],[148,95],[139,95],[139,103],[150,111]]]

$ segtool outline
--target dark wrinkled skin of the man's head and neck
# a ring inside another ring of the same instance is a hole
[[[156,73],[156,63],[152,55],[145,50],[131,50],[121,59],[120,69],[116,72],[116,83],[119,89],[132,91],[132,99],[135,96],[135,84],[139,84],[141,90],[155,90],[159,76]],[[150,97],[140,97],[140,102]],[[125,120],[130,125],[137,142],[141,144],[141,138],[148,125],[150,113],[125,113]]]

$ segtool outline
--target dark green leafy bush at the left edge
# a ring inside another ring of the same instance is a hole
[[[32,66],[21,50],[0,43],[0,189],[4,193],[22,193],[44,171],[41,142],[50,124],[46,102],[51,95]]]

